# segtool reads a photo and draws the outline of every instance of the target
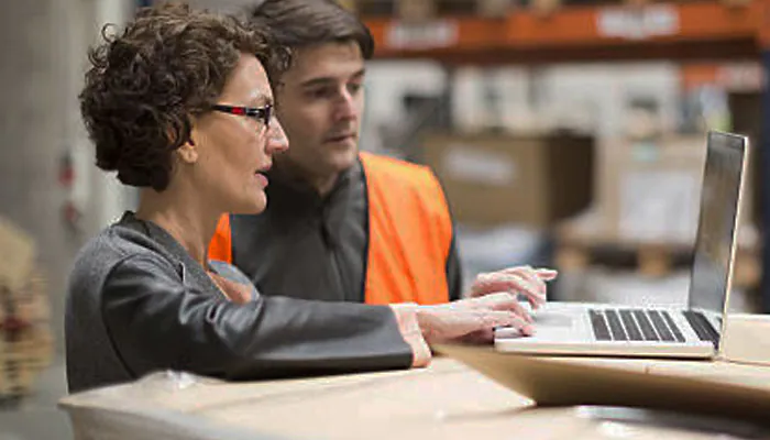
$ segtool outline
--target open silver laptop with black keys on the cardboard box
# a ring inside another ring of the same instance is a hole
[[[548,302],[532,314],[535,336],[497,329],[495,349],[534,354],[715,356],[727,311],[747,162],[747,138],[708,133],[686,309]]]

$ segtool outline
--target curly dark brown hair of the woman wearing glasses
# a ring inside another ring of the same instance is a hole
[[[89,52],[80,111],[96,143],[97,166],[125,185],[164,190],[172,153],[190,138],[190,117],[210,110],[241,53],[271,76],[288,52],[265,31],[226,15],[165,4],[140,10],[118,36]]]

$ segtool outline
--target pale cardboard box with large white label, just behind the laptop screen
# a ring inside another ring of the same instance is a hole
[[[657,142],[609,141],[600,148],[598,210],[607,240],[690,245],[700,212],[705,134]],[[747,183],[751,180],[747,176]],[[741,228],[752,224],[754,190],[745,186]]]

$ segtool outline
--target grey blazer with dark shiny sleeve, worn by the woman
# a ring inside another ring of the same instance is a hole
[[[222,276],[248,283],[227,264]],[[406,369],[386,306],[262,296],[230,302],[186,250],[128,212],[80,251],[65,317],[70,392],[178,370],[226,380]]]

